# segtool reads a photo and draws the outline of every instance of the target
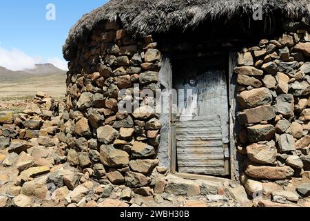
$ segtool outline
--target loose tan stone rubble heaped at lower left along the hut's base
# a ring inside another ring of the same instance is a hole
[[[122,156],[113,156],[118,154],[118,149],[107,149],[109,154],[105,156],[91,150],[87,153],[68,149],[58,136],[63,109],[63,102],[37,93],[23,113],[0,112],[0,207],[241,206],[248,203],[244,189],[243,198],[235,200],[229,195],[229,182],[194,182],[167,175],[166,169],[156,166],[158,160],[130,161],[130,168],[136,172],[127,171],[126,177],[117,169],[107,173],[100,159],[123,164]],[[127,133],[121,131],[126,137]],[[136,155],[141,153],[140,148],[141,144],[135,144]],[[91,168],[93,161],[97,163]],[[150,173],[154,177],[152,181],[144,175]]]

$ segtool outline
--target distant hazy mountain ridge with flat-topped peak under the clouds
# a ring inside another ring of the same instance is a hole
[[[50,75],[65,75],[66,71],[56,68],[50,63],[36,64],[33,70],[9,70],[0,66],[0,81],[22,81],[33,77],[43,77]]]

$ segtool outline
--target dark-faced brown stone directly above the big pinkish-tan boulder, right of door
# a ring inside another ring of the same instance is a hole
[[[252,143],[263,141],[263,140],[272,140],[273,136],[276,134],[276,128],[273,125],[255,125],[249,126],[247,128],[249,141]]]

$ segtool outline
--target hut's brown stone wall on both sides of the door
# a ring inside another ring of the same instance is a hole
[[[147,108],[153,99],[141,99],[134,90],[134,84],[140,93],[161,88],[165,59],[157,47],[151,36],[133,38],[118,23],[97,26],[70,62],[59,133],[72,166],[92,168],[101,184],[125,184],[142,195],[152,192],[155,173],[169,167],[167,146],[158,150],[167,143],[161,141],[163,118]],[[307,30],[263,39],[238,53],[237,146],[246,159],[241,181],[251,197],[273,184],[286,189],[310,169],[309,57]],[[123,89],[127,94],[118,97]],[[132,112],[118,111],[128,101]],[[158,166],[158,153],[165,167]]]

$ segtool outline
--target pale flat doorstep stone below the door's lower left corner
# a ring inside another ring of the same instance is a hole
[[[174,195],[192,197],[200,194],[200,186],[192,180],[170,178],[165,187],[165,192]]]

